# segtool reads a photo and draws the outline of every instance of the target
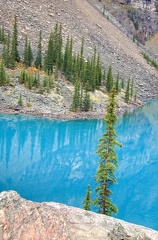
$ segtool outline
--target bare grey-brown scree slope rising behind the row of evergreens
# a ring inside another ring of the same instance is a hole
[[[140,100],[158,97],[158,74],[143,58],[142,49],[97,11],[90,0],[1,0],[0,24],[4,22],[5,28],[12,31],[14,15],[18,18],[21,52],[26,35],[36,52],[40,29],[45,49],[48,36],[58,21],[65,39],[73,36],[74,51],[80,49],[84,36],[86,56],[91,56],[96,46],[103,67],[107,69],[112,65],[115,75],[119,72],[125,81],[129,77],[134,79]]]

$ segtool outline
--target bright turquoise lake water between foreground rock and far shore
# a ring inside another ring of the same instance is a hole
[[[0,191],[81,207],[87,184],[95,187],[95,151],[103,132],[99,120],[1,114]],[[116,217],[158,230],[158,101],[121,117],[117,134],[123,147],[116,149]]]

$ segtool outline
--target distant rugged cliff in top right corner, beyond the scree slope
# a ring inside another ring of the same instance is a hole
[[[124,30],[135,42],[145,44],[158,32],[156,1],[102,0],[91,1],[96,8]],[[158,47],[156,54],[158,53]],[[154,55],[155,52],[152,51]],[[155,55],[155,57],[157,57]]]

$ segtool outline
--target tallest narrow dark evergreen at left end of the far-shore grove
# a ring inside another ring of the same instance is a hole
[[[20,56],[18,52],[18,28],[17,17],[14,17],[14,28],[12,36],[12,49],[11,49],[11,66],[15,67],[15,61],[20,62]]]

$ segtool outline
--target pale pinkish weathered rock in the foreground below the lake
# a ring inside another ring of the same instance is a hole
[[[34,203],[0,193],[3,240],[157,240],[158,232],[59,203]]]

